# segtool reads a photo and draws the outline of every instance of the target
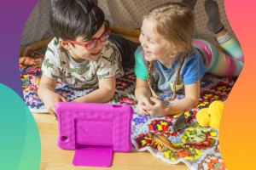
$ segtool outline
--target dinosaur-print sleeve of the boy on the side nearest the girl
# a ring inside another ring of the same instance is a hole
[[[120,58],[118,49],[114,48],[111,43],[108,44],[108,49],[103,52],[102,58],[98,63],[98,69],[96,71],[98,78],[102,79],[117,75],[123,76],[124,71]]]

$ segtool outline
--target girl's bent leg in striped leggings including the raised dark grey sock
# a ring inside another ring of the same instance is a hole
[[[236,37],[233,37],[221,23],[218,3],[206,0],[205,8],[209,18],[207,28],[216,35],[222,49],[203,40],[195,40],[193,43],[205,53],[208,72],[222,77],[239,76],[243,68],[241,46]]]

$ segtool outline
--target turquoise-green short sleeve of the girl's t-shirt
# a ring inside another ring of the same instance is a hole
[[[135,67],[134,67],[135,75],[141,80],[147,80],[148,69],[146,65],[144,65],[143,59],[141,58],[141,56],[138,54],[137,51],[134,53],[134,55],[135,55]]]

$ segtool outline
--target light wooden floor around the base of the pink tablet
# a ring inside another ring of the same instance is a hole
[[[188,169],[183,163],[172,165],[149,152],[114,153],[112,167],[74,167],[73,150],[61,150],[56,145],[58,135],[57,121],[49,114],[33,114],[38,125],[41,138],[40,170],[69,170],[69,169],[110,169],[110,170],[183,170]]]

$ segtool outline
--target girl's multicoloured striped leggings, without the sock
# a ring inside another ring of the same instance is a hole
[[[238,77],[244,65],[240,43],[230,32],[217,41],[220,47],[201,39],[194,39],[193,46],[204,54],[207,72],[219,77]]]

